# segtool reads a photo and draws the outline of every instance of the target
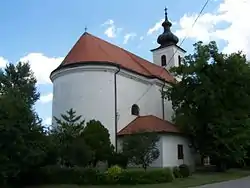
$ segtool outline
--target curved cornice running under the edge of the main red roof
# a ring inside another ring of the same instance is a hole
[[[118,64],[112,63],[112,62],[78,62],[74,64],[68,64],[59,66],[57,69],[51,72],[50,79],[53,82],[56,78],[66,75],[68,73],[72,72],[81,72],[81,71],[108,71],[108,72],[116,72],[117,69],[120,68],[119,75],[122,75],[124,77],[143,82],[145,84],[156,84],[158,86],[163,86],[164,82],[168,82],[160,79],[156,76],[145,76],[142,74],[139,74],[131,69],[127,69],[125,67],[121,67]]]

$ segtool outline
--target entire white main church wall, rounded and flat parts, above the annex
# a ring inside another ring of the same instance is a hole
[[[53,75],[52,115],[60,117],[60,114],[73,108],[86,121],[99,120],[108,128],[115,145],[116,71],[114,67],[84,66],[61,70]],[[117,74],[118,132],[137,117],[131,115],[133,104],[139,106],[141,116],[163,117],[161,86],[145,77],[136,79],[135,76],[124,70]],[[170,120],[171,103],[165,101],[164,112],[165,119]]]

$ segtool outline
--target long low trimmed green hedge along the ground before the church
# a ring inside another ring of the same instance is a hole
[[[109,173],[109,172],[112,172]],[[77,184],[77,185],[133,185],[171,182],[169,168],[155,170],[122,170],[100,172],[94,169],[47,166],[23,175],[19,185]]]

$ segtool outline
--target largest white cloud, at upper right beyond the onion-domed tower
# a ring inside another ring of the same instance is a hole
[[[200,16],[192,30],[197,13],[184,15],[176,34],[195,40],[223,40],[227,43],[223,49],[225,53],[242,50],[250,58],[249,10],[250,0],[223,0],[213,12]]]

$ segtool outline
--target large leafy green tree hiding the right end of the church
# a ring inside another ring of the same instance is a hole
[[[250,67],[241,52],[219,53],[215,42],[194,44],[194,54],[171,70],[180,78],[165,93],[173,120],[202,156],[220,170],[241,162],[249,145]]]

